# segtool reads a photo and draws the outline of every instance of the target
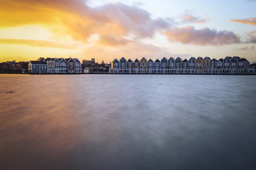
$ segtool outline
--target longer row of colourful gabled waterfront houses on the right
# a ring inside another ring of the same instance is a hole
[[[255,66],[250,67],[250,62],[240,57],[225,57],[224,59],[210,59],[209,57],[191,57],[182,60],[180,57],[161,60],[120,60],[114,59],[111,62],[109,72],[112,73],[255,73]]]

